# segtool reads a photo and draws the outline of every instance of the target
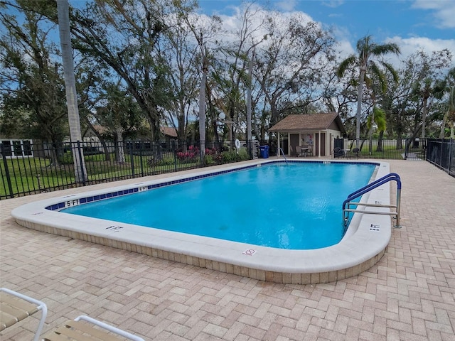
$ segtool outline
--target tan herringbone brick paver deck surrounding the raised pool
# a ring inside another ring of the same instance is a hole
[[[9,212],[55,196],[43,193],[0,201],[0,286],[48,305],[44,332],[84,314],[145,340],[455,340],[455,178],[425,161],[387,162],[402,178],[402,228],[358,276],[269,283],[16,224]],[[31,340],[37,324],[0,339]]]

